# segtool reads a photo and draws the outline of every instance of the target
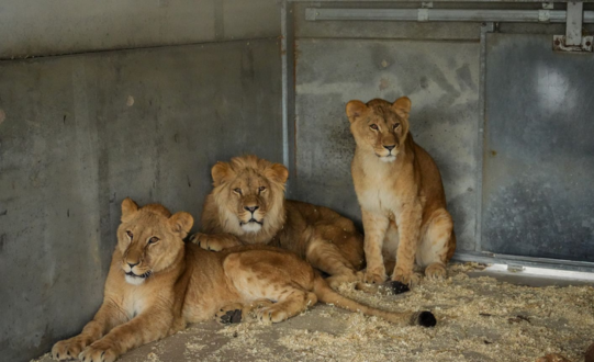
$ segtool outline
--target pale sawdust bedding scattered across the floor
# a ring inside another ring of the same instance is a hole
[[[469,278],[466,272],[473,268],[480,265],[450,265],[447,280],[424,281],[397,296],[341,286],[344,295],[374,307],[430,309],[438,320],[435,328],[395,327],[376,317],[318,305],[274,326],[199,324],[171,339],[183,341],[186,361],[534,362],[549,353],[583,361],[594,338],[594,287],[513,285],[487,276]],[[324,328],[303,328],[299,318]],[[173,361],[169,344],[165,339],[136,353],[142,359],[124,355],[124,360]]]

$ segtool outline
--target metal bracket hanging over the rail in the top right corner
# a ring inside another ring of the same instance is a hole
[[[582,36],[582,23],[584,20],[584,3],[568,2],[565,35],[552,37],[552,49],[557,52],[583,53],[592,52],[592,36]]]

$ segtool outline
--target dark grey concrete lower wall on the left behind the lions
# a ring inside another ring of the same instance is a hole
[[[2,61],[0,83],[2,361],[92,317],[124,197],[198,219],[215,161],[281,161],[277,39]]]

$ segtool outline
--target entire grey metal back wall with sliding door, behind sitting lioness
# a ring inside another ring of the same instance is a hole
[[[289,195],[360,225],[345,104],[408,95],[457,259],[594,270],[594,12],[554,7],[285,1]]]

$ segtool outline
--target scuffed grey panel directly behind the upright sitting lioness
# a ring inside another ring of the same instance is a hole
[[[296,197],[360,220],[350,161],[349,100],[413,102],[411,132],[436,160],[459,250],[474,250],[479,44],[299,39]],[[293,189],[293,192],[295,190]]]

